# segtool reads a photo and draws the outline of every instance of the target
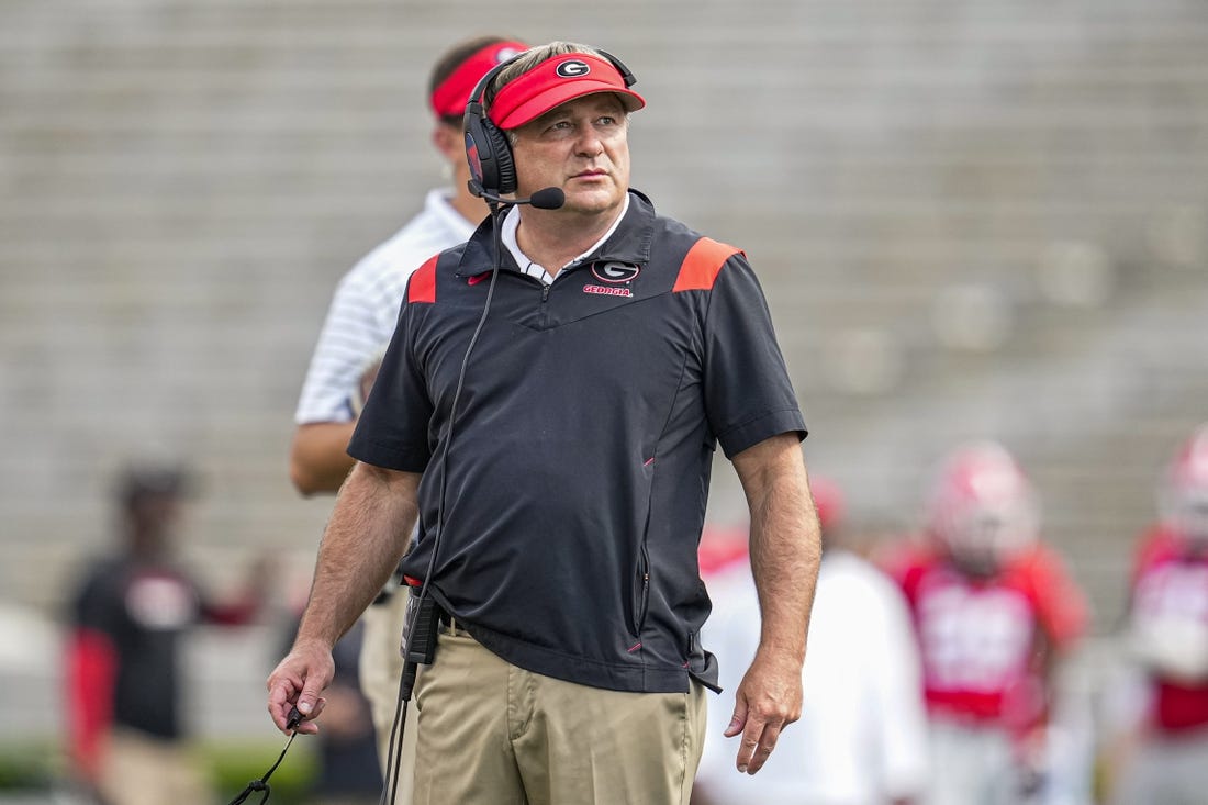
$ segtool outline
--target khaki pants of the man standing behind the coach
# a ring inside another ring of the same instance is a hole
[[[361,620],[365,633],[361,636],[360,684],[361,693],[370,700],[373,713],[373,729],[377,731],[378,760],[382,774],[387,774],[390,731],[394,726],[394,714],[399,703],[399,678],[402,676],[402,655],[399,642],[402,638],[402,620],[407,612],[407,586],[395,590],[387,601],[365,610]],[[396,764],[410,778],[416,757],[416,706],[414,697],[407,706],[407,725],[402,731],[401,763]],[[397,753],[397,737],[395,743]],[[385,781],[389,786],[390,781]],[[410,787],[400,781],[399,793],[391,805],[410,805]]]

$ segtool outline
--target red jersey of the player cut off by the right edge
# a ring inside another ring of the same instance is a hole
[[[1208,551],[1162,526],[1140,540],[1133,562],[1134,622],[1178,620],[1208,630]],[[1208,679],[1175,682],[1154,671],[1154,726],[1179,732],[1208,724]]]

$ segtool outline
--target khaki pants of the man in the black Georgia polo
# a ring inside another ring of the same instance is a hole
[[[704,689],[602,690],[523,671],[442,629],[420,667],[414,805],[687,805]]]

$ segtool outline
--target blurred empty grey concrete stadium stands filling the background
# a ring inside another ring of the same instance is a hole
[[[313,548],[330,500],[285,477],[302,371],[338,276],[441,183],[422,85],[467,19],[633,68],[635,185],[747,249],[807,453],[858,514],[908,519],[924,465],[989,432],[1119,608],[1152,473],[1208,399],[1208,263],[1148,242],[1208,205],[1208,8],[1185,0],[5,4],[5,595],[54,606],[23,568],[58,578],[101,544],[106,473],[144,447],[208,479],[187,534],[207,573]],[[1099,309],[1039,296],[1068,239],[1117,272]],[[1011,306],[994,351],[937,341],[935,300],[966,284]],[[854,330],[901,348],[888,388],[829,375]],[[714,487],[719,517],[741,511],[728,468]]]

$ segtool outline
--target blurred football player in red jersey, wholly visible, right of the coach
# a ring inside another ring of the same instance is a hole
[[[1063,747],[1051,713],[1087,607],[1040,539],[1035,492],[1011,453],[992,441],[952,451],[923,539],[892,546],[885,567],[906,593],[923,662],[933,747],[925,801],[1079,801],[1068,789],[1086,781],[1050,761]]]

